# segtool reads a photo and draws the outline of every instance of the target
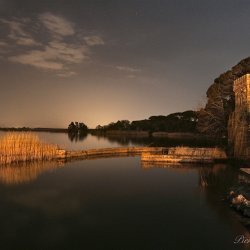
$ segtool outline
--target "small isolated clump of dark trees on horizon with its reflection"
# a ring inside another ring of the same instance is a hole
[[[83,122],[71,122],[68,126],[68,137],[71,141],[82,141],[87,133],[88,127]]]

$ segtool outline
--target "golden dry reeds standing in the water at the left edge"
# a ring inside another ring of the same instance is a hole
[[[58,146],[42,142],[32,133],[8,133],[0,139],[0,164],[55,158]]]

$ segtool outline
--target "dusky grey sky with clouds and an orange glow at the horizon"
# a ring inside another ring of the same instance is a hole
[[[0,0],[0,126],[197,110],[249,25],[249,0]]]

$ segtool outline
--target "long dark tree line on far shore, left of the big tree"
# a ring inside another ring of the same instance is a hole
[[[128,120],[112,122],[109,125],[96,127],[99,131],[150,131],[150,132],[196,132],[197,112],[185,111],[173,113],[168,116],[151,116],[149,119],[132,121]]]

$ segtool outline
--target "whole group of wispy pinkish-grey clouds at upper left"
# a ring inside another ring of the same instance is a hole
[[[4,54],[1,48],[10,47],[7,41],[9,39],[12,41],[12,47],[16,46],[16,53],[12,51],[7,56],[10,62],[49,70],[61,77],[75,75],[76,72],[71,69],[72,64],[80,64],[88,60],[91,54],[90,48],[104,44],[100,36],[86,36],[82,41],[73,23],[51,13],[39,15],[36,22],[17,18],[0,21],[9,27],[6,39],[0,41],[0,54]],[[39,39],[39,35],[31,34],[30,30],[35,25],[45,32],[46,39],[43,41]],[[68,36],[72,36],[70,41],[67,39]],[[21,50],[22,47],[23,50]]]

